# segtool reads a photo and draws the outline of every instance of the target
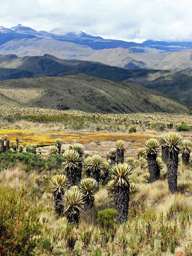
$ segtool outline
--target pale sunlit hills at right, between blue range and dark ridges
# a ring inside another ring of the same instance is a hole
[[[115,48],[95,51],[83,60],[98,61],[107,65],[129,69],[192,70],[192,50],[167,53],[134,53],[129,49]]]

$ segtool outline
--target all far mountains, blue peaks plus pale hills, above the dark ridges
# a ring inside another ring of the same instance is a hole
[[[192,70],[192,43],[146,40],[142,44],[103,39],[82,31],[54,28],[36,31],[22,26],[0,27],[0,54],[91,60],[128,69]]]

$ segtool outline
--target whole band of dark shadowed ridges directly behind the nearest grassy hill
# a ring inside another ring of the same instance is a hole
[[[23,57],[0,55],[0,80],[82,73],[103,79],[127,81],[192,102],[192,71],[131,70],[84,60],[61,60],[51,55]],[[14,84],[16,80],[10,81]],[[71,82],[72,83],[72,82]],[[70,82],[69,82],[70,84]]]

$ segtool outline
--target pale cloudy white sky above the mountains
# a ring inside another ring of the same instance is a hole
[[[192,41],[191,0],[0,0],[0,26],[67,27],[104,38]]]

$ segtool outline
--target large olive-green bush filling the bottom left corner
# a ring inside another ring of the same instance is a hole
[[[31,205],[28,192],[22,188],[0,185],[0,255],[36,255],[40,234],[38,213]]]

